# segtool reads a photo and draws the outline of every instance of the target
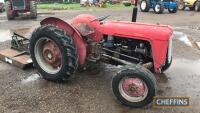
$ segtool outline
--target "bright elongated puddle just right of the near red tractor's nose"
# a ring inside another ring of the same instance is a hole
[[[191,41],[189,40],[189,38],[187,37],[187,35],[184,34],[183,32],[174,31],[174,36],[176,38],[178,38],[180,41],[182,41],[183,43],[185,43],[186,45],[192,47]]]

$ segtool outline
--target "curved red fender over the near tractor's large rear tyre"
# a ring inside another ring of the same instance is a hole
[[[70,24],[59,18],[49,17],[40,22],[40,25],[49,25],[49,24],[54,25],[60,29],[63,29],[65,33],[73,39],[73,42],[77,48],[79,64],[83,65],[86,59],[86,44],[83,41],[80,33]]]

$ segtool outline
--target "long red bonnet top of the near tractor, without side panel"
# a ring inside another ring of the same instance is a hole
[[[169,40],[172,28],[166,25],[153,25],[124,21],[108,21],[102,24],[103,34],[141,40]]]

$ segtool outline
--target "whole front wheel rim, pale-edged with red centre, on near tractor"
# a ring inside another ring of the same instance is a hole
[[[146,83],[137,77],[125,77],[119,83],[119,92],[130,102],[143,101],[148,94]]]

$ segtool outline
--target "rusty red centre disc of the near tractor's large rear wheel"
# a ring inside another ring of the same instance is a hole
[[[58,46],[51,40],[48,40],[43,48],[42,55],[44,60],[53,68],[58,68],[61,65],[61,53]]]

